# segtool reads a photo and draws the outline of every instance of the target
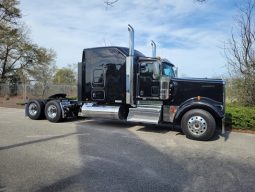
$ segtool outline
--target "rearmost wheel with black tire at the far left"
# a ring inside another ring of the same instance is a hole
[[[44,103],[41,100],[30,100],[26,105],[26,114],[33,120],[42,119],[44,117]]]

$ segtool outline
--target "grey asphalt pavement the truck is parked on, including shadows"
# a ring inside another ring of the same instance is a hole
[[[0,108],[3,191],[255,191],[255,135],[185,138],[173,128]]]

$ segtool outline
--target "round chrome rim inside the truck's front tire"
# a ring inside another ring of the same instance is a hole
[[[195,136],[203,135],[207,130],[207,123],[201,116],[193,116],[188,120],[188,129]]]

